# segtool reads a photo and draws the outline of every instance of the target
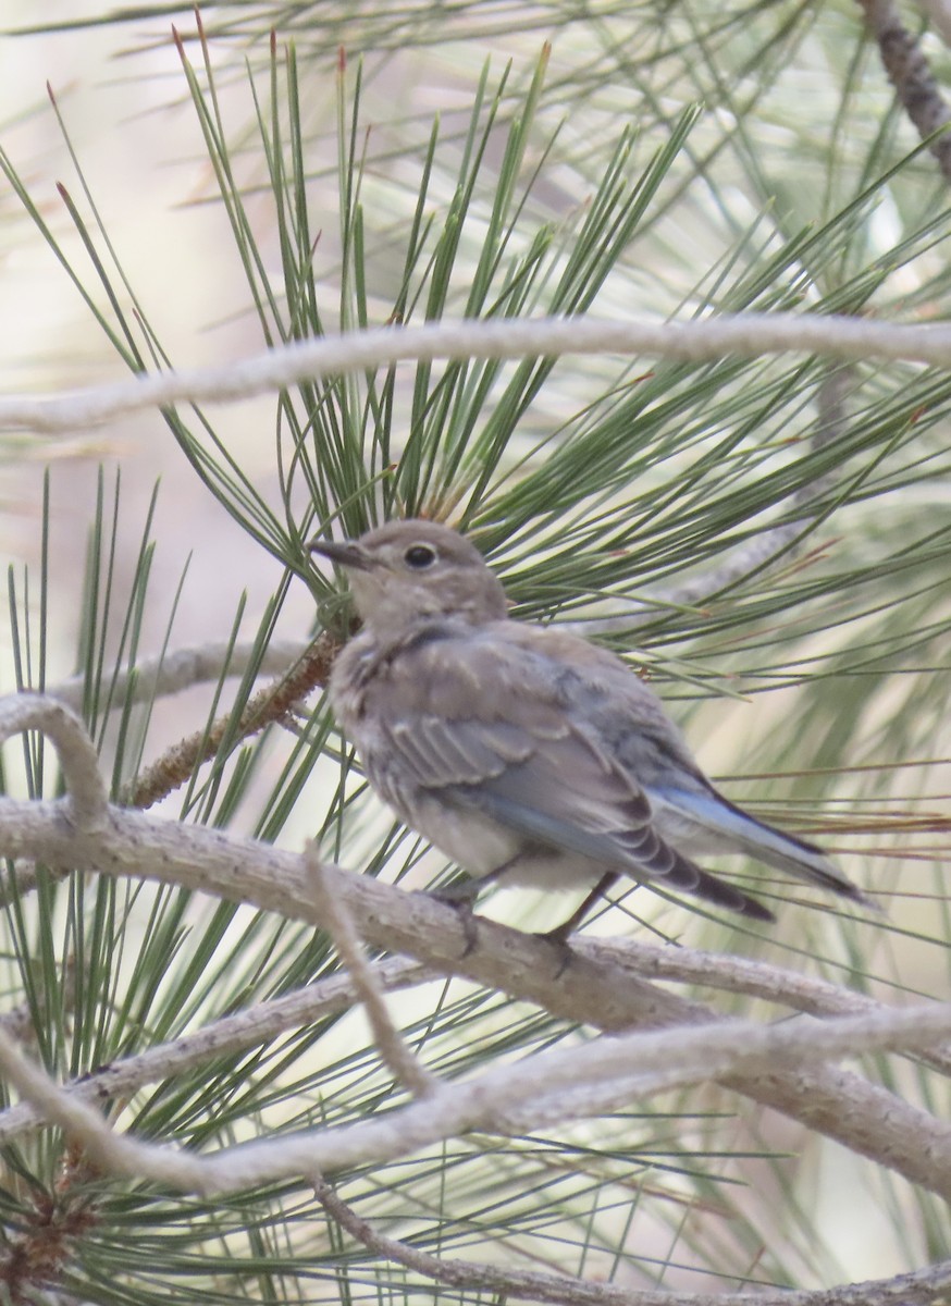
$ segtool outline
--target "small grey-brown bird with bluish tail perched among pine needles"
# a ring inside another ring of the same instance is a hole
[[[867,905],[814,844],[724,798],[621,658],[509,619],[455,530],[392,521],[310,549],[346,569],[363,620],[333,667],[337,720],[374,789],[476,887],[594,885],[562,936],[621,875],[772,921],[694,861],[743,853]]]

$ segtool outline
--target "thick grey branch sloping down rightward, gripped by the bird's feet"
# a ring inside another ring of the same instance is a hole
[[[27,846],[56,865],[183,884],[321,923],[308,901],[299,857],[219,831],[112,810],[107,835],[77,836],[56,803],[0,801],[0,852],[18,855]],[[615,966],[575,955],[563,968],[559,949],[490,921],[478,919],[477,947],[466,951],[465,932],[452,908],[337,868],[325,867],[324,874],[330,876],[333,892],[359,916],[370,943],[417,956],[444,974],[465,976],[537,1002],[554,1015],[609,1030],[716,1019],[701,1004],[654,989]],[[724,1083],[911,1182],[951,1196],[951,1128],[860,1076],[820,1067],[737,1074]]]

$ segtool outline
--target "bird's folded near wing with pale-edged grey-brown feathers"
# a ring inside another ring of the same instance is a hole
[[[374,693],[375,751],[391,774],[536,845],[771,919],[665,842],[636,778],[566,710],[560,671],[498,639],[421,641]]]

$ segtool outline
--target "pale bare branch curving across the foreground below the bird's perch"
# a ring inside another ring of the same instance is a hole
[[[182,1191],[236,1192],[285,1178],[381,1164],[473,1130],[504,1132],[513,1113],[545,1123],[618,1109],[675,1083],[717,1075],[773,1077],[801,1062],[858,1051],[920,1047],[951,1033],[951,1004],[835,1021],[760,1028],[724,1020],[703,1028],[622,1034],[540,1053],[530,1067],[502,1064],[462,1084],[444,1084],[409,1106],[358,1124],[269,1138],[196,1157],[116,1135],[85,1102],[57,1088],[0,1028],[0,1066],[17,1091],[67,1130],[99,1169],[155,1179]],[[942,1138],[943,1132],[943,1138]],[[935,1165],[947,1168],[951,1131],[929,1131]],[[938,1175],[933,1175],[937,1181]]]

